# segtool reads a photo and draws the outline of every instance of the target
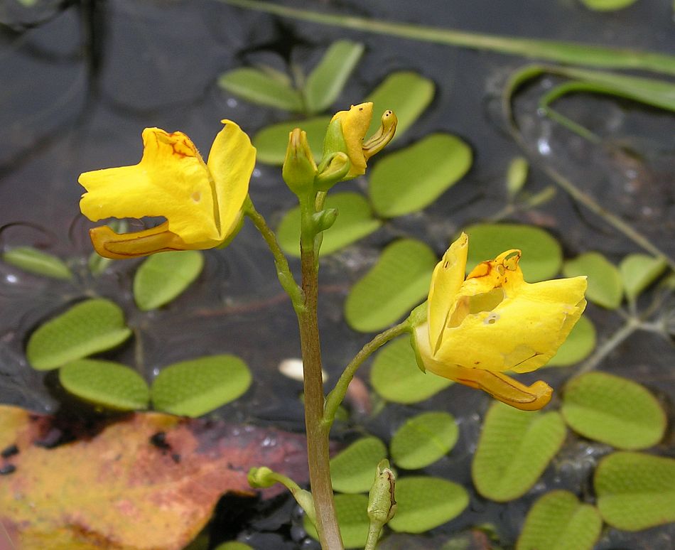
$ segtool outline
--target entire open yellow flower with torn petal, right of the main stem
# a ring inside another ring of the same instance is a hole
[[[467,252],[463,233],[433,270],[427,318],[413,333],[419,366],[517,409],[541,409],[551,387],[525,386],[504,371],[530,372],[553,357],[586,306],[586,278],[529,284],[521,252],[507,250],[465,279]]]

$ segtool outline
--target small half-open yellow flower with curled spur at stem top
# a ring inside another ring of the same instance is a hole
[[[368,159],[382,151],[394,137],[396,114],[393,111],[385,111],[379,130],[367,141],[363,141],[371,120],[372,102],[365,102],[352,105],[348,111],[335,113],[328,124],[323,144],[323,158],[327,161],[338,151],[346,153],[351,166],[345,180],[364,174]]]

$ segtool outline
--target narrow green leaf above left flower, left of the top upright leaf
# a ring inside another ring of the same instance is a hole
[[[259,69],[244,67],[224,72],[218,78],[218,85],[259,105],[292,112],[301,112],[304,108],[297,90]]]

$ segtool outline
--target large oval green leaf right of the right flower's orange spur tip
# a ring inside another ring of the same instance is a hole
[[[561,412],[577,433],[620,449],[651,447],[666,431],[666,414],[646,388],[605,372],[571,379]]]

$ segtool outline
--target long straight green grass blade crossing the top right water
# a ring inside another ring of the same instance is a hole
[[[301,21],[350,28],[368,33],[399,36],[423,42],[454,45],[476,50],[492,50],[498,53],[522,55],[525,58],[546,59],[570,65],[641,69],[675,75],[675,56],[664,53],[629,50],[627,48],[606,48],[600,45],[539,40],[536,38],[468,33],[449,28],[377,21],[377,19],[365,17],[322,14],[258,0],[221,1],[232,6],[264,11],[268,14]]]

